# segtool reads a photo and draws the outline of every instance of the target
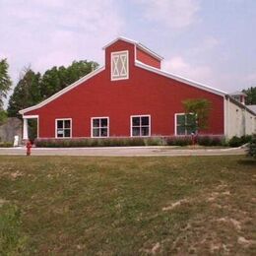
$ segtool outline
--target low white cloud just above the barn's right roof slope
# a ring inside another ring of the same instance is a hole
[[[181,56],[174,56],[169,60],[163,61],[162,64],[164,70],[175,75],[208,85],[213,83],[213,72],[208,66],[193,66]]]

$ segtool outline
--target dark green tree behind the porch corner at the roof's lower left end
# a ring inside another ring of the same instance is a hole
[[[39,81],[39,73],[35,74],[31,68],[25,69],[13,95],[9,99],[7,109],[9,116],[19,117],[19,110],[32,106],[41,100]]]

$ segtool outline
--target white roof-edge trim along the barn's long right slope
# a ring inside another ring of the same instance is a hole
[[[198,88],[198,89],[210,92],[210,93],[218,95],[218,96],[225,96],[226,95],[226,93],[224,93],[223,91],[220,91],[220,90],[217,90],[217,89],[205,86],[203,84],[194,82],[192,80],[189,80],[189,79],[186,79],[186,78],[183,78],[183,77],[180,77],[180,76],[177,76],[177,75],[174,75],[174,74],[162,71],[162,70],[160,70],[158,68],[154,68],[152,66],[146,65],[146,64],[144,64],[144,63],[142,63],[140,61],[135,61],[135,66],[137,66],[139,68],[142,68],[142,69],[145,69],[145,70],[148,70],[150,72],[159,74],[160,76],[164,76],[164,77],[167,77],[167,78],[179,81],[181,83],[187,84],[189,86],[192,86],[192,87],[195,87],[195,88]]]

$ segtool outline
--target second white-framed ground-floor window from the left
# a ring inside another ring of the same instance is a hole
[[[92,137],[108,137],[109,135],[109,118],[93,117],[92,118]]]

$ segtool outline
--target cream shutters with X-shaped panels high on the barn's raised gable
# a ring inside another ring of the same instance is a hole
[[[116,51],[111,53],[111,80],[123,80],[129,78],[129,54],[128,51]]]

